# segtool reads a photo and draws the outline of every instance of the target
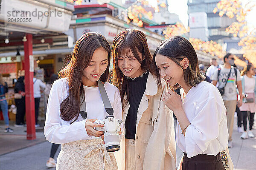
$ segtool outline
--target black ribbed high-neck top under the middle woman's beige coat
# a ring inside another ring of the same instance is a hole
[[[148,72],[144,73],[141,77],[136,77],[135,79],[128,79],[129,88],[129,99],[130,108],[125,119],[125,138],[135,139],[136,133],[136,122],[137,122],[137,112],[140,105],[140,101],[146,90],[146,83],[148,79]]]

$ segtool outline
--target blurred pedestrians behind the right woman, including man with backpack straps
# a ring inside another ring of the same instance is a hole
[[[248,64],[243,70],[236,67],[233,54],[224,56],[224,65],[219,65],[216,59],[211,59],[209,68],[203,64],[199,68],[204,72],[205,81],[215,85],[223,98],[227,109],[227,125],[229,132],[228,147],[233,147],[232,133],[234,115],[237,115],[238,132],[241,139],[253,138],[252,132],[254,114],[256,111],[256,70]],[[249,129],[247,128],[249,122]],[[242,127],[243,126],[243,127]]]

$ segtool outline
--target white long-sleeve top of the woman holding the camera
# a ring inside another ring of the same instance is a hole
[[[113,116],[122,120],[122,104],[118,88],[110,83],[104,84],[108,98],[113,108]],[[105,111],[105,107],[100,96],[99,88],[84,86],[87,119],[105,119],[109,114]],[[44,126],[44,135],[49,142],[52,143],[68,143],[83,139],[96,139],[94,136],[88,136],[85,129],[85,122],[79,115],[76,122],[70,124],[71,121],[64,121],[60,116],[61,102],[68,96],[67,79],[56,80],[50,90],[46,120]],[[121,126],[123,131],[123,127]]]

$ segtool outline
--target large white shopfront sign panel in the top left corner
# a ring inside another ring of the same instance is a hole
[[[37,3],[34,1],[36,0],[0,1],[0,20],[4,20],[6,30],[12,24],[58,32],[69,29],[73,15],[72,8],[67,9],[64,6],[61,7],[60,4],[52,6],[47,2]]]

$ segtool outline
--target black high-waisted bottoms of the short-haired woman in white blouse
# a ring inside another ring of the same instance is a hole
[[[184,153],[182,170],[226,170],[222,161],[220,153],[216,156],[198,154],[192,158],[188,158]]]

